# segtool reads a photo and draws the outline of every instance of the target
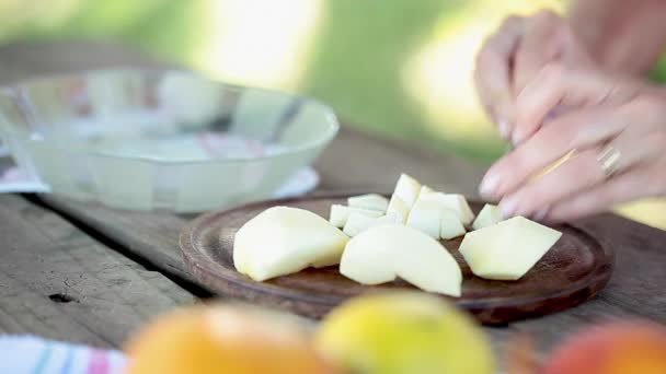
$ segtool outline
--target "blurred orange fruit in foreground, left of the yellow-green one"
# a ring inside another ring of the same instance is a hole
[[[295,317],[244,305],[184,308],[157,318],[127,344],[127,374],[334,373]]]

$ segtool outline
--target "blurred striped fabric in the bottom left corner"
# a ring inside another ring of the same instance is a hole
[[[120,374],[124,365],[125,358],[118,351],[0,335],[0,373]]]

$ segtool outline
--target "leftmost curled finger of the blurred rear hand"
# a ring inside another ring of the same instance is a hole
[[[523,34],[524,19],[510,16],[490,37],[476,58],[474,83],[484,108],[497,124],[503,138],[514,122],[514,93],[510,87],[513,55]]]

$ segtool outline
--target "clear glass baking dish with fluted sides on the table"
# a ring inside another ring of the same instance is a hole
[[[0,92],[0,138],[51,192],[198,212],[271,197],[335,137],[311,98],[186,71],[105,70]]]

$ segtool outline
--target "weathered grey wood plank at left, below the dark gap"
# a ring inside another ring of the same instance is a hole
[[[138,326],[194,297],[57,214],[0,197],[0,331],[118,347]]]

